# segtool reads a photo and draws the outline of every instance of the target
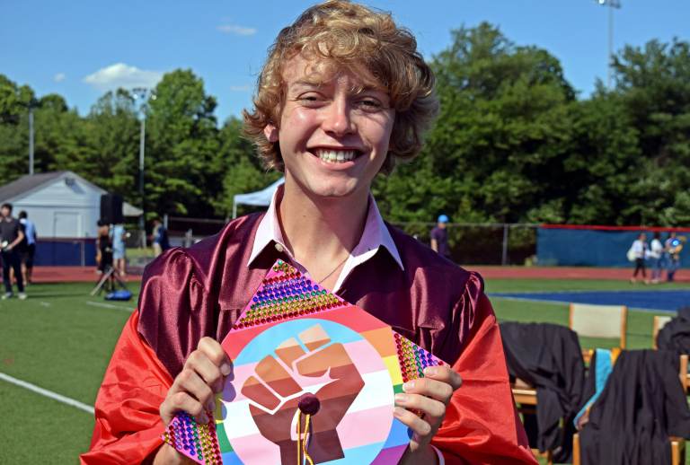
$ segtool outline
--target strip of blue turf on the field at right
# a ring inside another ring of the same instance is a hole
[[[627,305],[630,309],[677,311],[690,306],[690,290],[672,291],[582,291],[555,293],[491,293],[490,297],[504,297],[526,301],[558,303],[592,303],[597,305]]]

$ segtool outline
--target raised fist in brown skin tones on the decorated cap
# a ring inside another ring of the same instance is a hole
[[[250,411],[261,434],[280,447],[283,465],[296,464],[297,403],[311,392],[319,400],[318,411],[310,419],[308,453],[314,463],[344,457],[336,426],[364,387],[357,367],[341,343],[331,338],[319,324],[299,334],[307,351],[296,338],[288,338],[275,349],[276,356],[264,357],[242,387],[250,399]],[[317,391],[304,385],[323,385]],[[304,416],[302,417],[304,431]]]

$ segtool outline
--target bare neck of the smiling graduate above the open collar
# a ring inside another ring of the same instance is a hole
[[[319,279],[358,244],[367,209],[368,189],[348,197],[310,196],[287,173],[278,212],[286,245]]]

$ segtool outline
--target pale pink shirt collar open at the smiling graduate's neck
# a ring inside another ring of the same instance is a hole
[[[254,243],[252,245],[252,254],[249,256],[249,261],[247,262],[247,267],[252,264],[252,261],[270,245],[271,242],[275,242],[275,247],[279,251],[284,251],[288,256],[290,252],[285,245],[283,239],[283,233],[280,230],[280,224],[278,222],[278,213],[276,209],[279,205],[279,200],[283,195],[283,186],[280,186],[273,193],[273,197],[270,201],[270,206],[266,215],[261,218],[261,223],[259,224],[256,235],[254,236]],[[380,247],[385,247],[386,250],[391,254],[391,257],[398,264],[400,269],[404,270],[403,260],[400,258],[400,253],[397,247],[395,247],[395,242],[391,233],[388,231],[384,223],[384,219],[381,217],[381,213],[378,211],[378,206],[376,206],[376,200],[369,194],[369,206],[367,211],[367,221],[364,224],[364,232],[362,232],[362,237],[359,239],[358,244],[350,252],[349,258],[345,262],[345,266],[341,270],[340,276],[338,276],[338,281],[336,282],[333,292],[337,292],[340,289],[345,278],[349,276],[353,269],[357,268],[359,265],[365,263],[368,259],[371,259],[376,255],[376,252]],[[294,259],[294,257],[292,257]]]

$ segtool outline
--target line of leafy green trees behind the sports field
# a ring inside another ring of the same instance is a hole
[[[690,43],[651,40],[613,58],[611,89],[579,98],[559,60],[482,23],[451,32],[430,59],[440,113],[420,157],[379,176],[392,222],[677,226],[690,223]],[[279,178],[242,121],[218,124],[216,99],[191,70],[164,75],[148,101],[146,212],[226,217],[233,196]],[[0,180],[71,170],[129,203],[138,195],[139,119],[131,92],[105,93],[80,116],[0,75]],[[242,213],[242,211],[240,212]]]

